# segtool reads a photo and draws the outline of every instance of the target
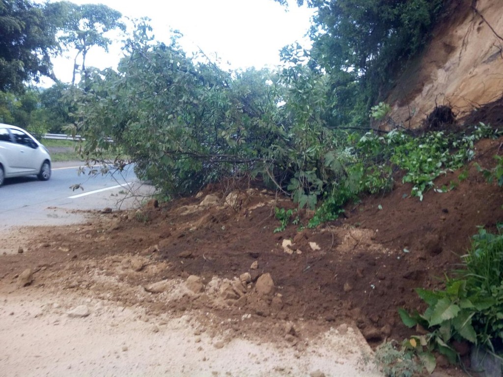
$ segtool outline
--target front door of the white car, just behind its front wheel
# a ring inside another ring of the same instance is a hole
[[[14,140],[14,148],[17,150],[12,162],[13,168],[18,173],[38,173],[40,168],[37,158],[38,144],[25,132],[11,128],[11,135]]]

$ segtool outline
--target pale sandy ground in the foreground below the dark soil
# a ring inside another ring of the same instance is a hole
[[[346,325],[303,339],[299,352],[267,339],[226,339],[218,323],[202,325],[197,313],[149,315],[140,306],[40,287],[2,292],[0,300],[5,376],[380,375],[363,363],[372,352],[365,339]],[[84,307],[89,315],[72,317]]]

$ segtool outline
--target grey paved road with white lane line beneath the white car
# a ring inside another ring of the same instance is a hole
[[[152,187],[138,182],[132,169],[120,175],[77,174],[79,162],[54,163],[51,179],[37,177],[7,179],[0,187],[0,230],[18,225],[58,225],[80,222],[83,215],[72,210],[138,206]],[[70,186],[81,184],[83,191]],[[140,195],[124,200],[133,190]]]

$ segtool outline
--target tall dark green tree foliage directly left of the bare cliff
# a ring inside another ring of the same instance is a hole
[[[284,4],[283,0],[276,0]],[[310,37],[313,69],[328,74],[330,126],[362,127],[392,87],[393,78],[420,53],[445,0],[298,0],[317,10]]]

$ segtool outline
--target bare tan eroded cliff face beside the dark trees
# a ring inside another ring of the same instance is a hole
[[[436,106],[450,106],[460,118],[501,98],[502,49],[503,1],[454,1],[429,46],[391,91],[391,117],[417,128]]]

